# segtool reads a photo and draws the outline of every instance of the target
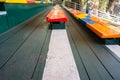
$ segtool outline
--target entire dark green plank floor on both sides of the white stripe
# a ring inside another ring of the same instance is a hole
[[[51,30],[45,10],[0,36],[0,80],[42,80]],[[120,60],[69,14],[69,41],[81,80],[120,80]]]

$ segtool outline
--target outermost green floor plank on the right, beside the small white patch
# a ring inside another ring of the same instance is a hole
[[[94,51],[95,56],[101,64],[106,68],[114,80],[120,80],[120,62],[117,60],[118,57],[114,56],[114,53],[106,49],[105,45],[100,44],[97,39],[93,38],[96,35],[91,33],[90,30],[85,31],[86,28],[81,29],[77,28],[80,34],[84,37],[86,43],[89,44],[91,50]]]

